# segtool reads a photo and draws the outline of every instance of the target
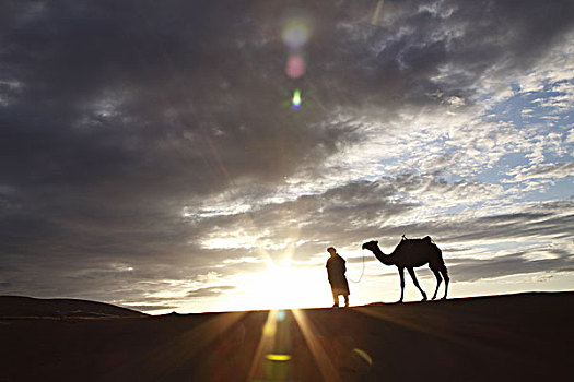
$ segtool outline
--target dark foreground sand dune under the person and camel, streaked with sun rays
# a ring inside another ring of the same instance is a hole
[[[1,319],[0,381],[535,381],[571,375],[574,293],[349,309]]]

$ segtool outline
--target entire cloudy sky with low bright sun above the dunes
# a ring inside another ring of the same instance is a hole
[[[327,307],[333,246],[393,302],[402,235],[574,290],[573,102],[570,0],[3,0],[0,295]]]

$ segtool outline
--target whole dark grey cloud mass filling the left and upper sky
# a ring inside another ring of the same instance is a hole
[[[307,74],[292,81],[278,31],[293,1],[3,1],[1,290],[134,299],[161,280],[194,279],[225,259],[257,254],[201,244],[207,232],[246,220],[269,238],[301,222],[300,258],[328,242],[400,237],[410,227],[385,220],[418,205],[399,194],[436,182],[352,182],[248,216],[190,223],[180,215],[221,192],[243,188],[257,201],[284,177],[319,174],[325,158],[362,139],[351,123],[323,123],[338,107],[390,116],[469,97],[484,71],[501,62],[527,68],[574,19],[569,1],[443,1],[434,13],[418,2],[385,3],[394,13],[375,27],[365,22],[367,1],[302,2],[315,34]],[[295,86],[309,105],[298,114],[289,107]],[[554,218],[519,231],[559,235]],[[409,232],[470,240],[489,227],[501,237],[516,228],[476,224],[484,230],[445,224]]]

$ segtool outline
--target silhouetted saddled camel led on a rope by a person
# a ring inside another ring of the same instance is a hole
[[[412,282],[419,288],[422,294],[422,300],[426,301],[426,294],[422,290],[419,285],[419,280],[414,275],[414,267],[429,264],[431,271],[433,271],[434,276],[436,277],[436,289],[434,290],[433,300],[436,298],[436,293],[441,286],[441,274],[445,279],[445,295],[443,300],[446,299],[446,294],[448,291],[448,271],[446,270],[445,262],[443,260],[443,252],[436,244],[431,240],[430,236],[426,236],[424,239],[407,239],[402,236],[401,241],[395,248],[393,253],[385,254],[378,248],[378,241],[368,241],[363,244],[363,249],[367,249],[375,258],[378,259],[385,265],[397,265],[399,268],[400,276],[400,300],[402,302],[402,297],[405,294],[405,268],[409,271]]]

